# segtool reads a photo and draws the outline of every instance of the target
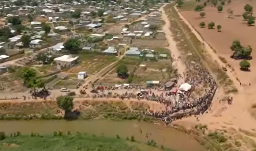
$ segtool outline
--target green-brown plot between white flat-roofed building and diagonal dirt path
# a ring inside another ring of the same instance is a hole
[[[69,73],[77,74],[80,71],[86,71],[87,74],[94,75],[102,68],[117,60],[116,56],[104,56],[101,54],[82,54],[79,57],[81,62],[76,67],[69,69]]]

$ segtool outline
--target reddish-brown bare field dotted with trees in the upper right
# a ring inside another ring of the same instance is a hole
[[[212,48],[217,52],[219,58],[223,63],[227,62],[228,66],[234,68],[237,71],[238,77],[246,77],[243,81],[246,83],[256,80],[256,76],[253,72],[240,72],[240,61],[230,58],[233,52],[230,50],[230,46],[234,40],[239,40],[243,46],[250,45],[252,47],[252,60],[250,60],[251,65],[256,64],[255,49],[256,49],[256,26],[247,26],[247,21],[243,20],[242,14],[244,13],[244,6],[246,4],[252,5],[256,8],[255,0],[232,0],[230,4],[223,5],[223,11],[218,12],[217,7],[211,7],[210,3],[207,3],[207,7],[203,8],[203,11],[196,12],[194,8],[196,5],[203,5],[205,1],[200,3],[195,3],[195,1],[186,1],[184,6],[179,8],[181,14],[192,24],[192,26],[202,35],[204,40],[212,46]],[[220,5],[217,4],[217,6]],[[235,8],[235,9],[234,9]],[[232,10],[233,15],[228,18],[227,10]],[[200,17],[200,12],[205,12],[205,17]],[[253,16],[256,10],[253,9]],[[200,28],[199,23],[205,22],[206,27]],[[210,22],[215,23],[215,29],[208,29],[207,25]],[[217,25],[221,25],[221,32],[218,32]],[[256,70],[256,66],[251,66],[251,71]],[[247,78],[250,76],[251,78]]]

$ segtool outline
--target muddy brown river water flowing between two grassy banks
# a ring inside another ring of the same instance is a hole
[[[163,145],[177,151],[207,151],[192,136],[163,124],[153,124],[138,121],[64,121],[64,120],[32,120],[32,121],[0,121],[0,131],[11,133],[39,132],[53,133],[54,131],[86,132],[95,135],[122,138],[135,137],[135,140],[147,142],[155,140],[157,145]],[[148,133],[148,137],[146,134]]]

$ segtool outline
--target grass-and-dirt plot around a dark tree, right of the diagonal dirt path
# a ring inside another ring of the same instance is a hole
[[[170,56],[168,49],[155,49],[155,52],[167,54]],[[125,57],[119,64],[125,64],[130,73],[127,79],[117,77],[117,69],[114,68],[102,79],[98,81],[101,84],[117,84],[117,83],[132,83],[132,84],[145,84],[149,80],[158,80],[161,83],[167,82],[172,76],[174,69],[172,68],[172,59],[158,61],[143,60],[140,57]]]

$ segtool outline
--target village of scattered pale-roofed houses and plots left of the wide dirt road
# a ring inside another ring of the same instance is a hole
[[[163,1],[16,0],[0,5],[0,93],[7,96],[40,87],[59,94],[88,83],[158,85],[174,76],[161,30]],[[20,76],[26,69],[33,69],[32,82]]]

